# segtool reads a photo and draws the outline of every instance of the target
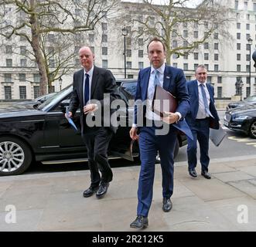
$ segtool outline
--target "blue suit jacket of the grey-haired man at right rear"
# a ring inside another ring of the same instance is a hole
[[[187,83],[187,88],[189,90],[189,101],[190,101],[190,110],[186,115],[186,122],[189,123],[189,126],[193,126],[195,123],[196,115],[199,107],[199,96],[198,96],[198,84],[197,80],[191,80]],[[212,113],[213,117],[210,117],[210,127],[213,129],[219,128],[219,116],[217,110],[214,105],[214,88],[209,83],[207,83],[207,90],[210,94],[210,113]]]

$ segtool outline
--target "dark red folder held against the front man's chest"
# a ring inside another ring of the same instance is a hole
[[[152,111],[160,117],[164,117],[164,112],[175,113],[178,103],[176,97],[164,90],[161,86],[155,86],[155,93],[152,102]]]

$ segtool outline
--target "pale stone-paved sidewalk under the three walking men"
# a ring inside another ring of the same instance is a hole
[[[2,177],[0,231],[136,232],[129,224],[136,216],[139,168],[114,168],[114,181],[101,200],[82,196],[89,171]],[[256,155],[211,160],[210,173],[211,180],[193,179],[186,162],[177,162],[173,208],[165,213],[157,164],[145,231],[255,231]]]

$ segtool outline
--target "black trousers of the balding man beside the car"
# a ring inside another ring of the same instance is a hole
[[[90,130],[87,128],[85,134],[82,135],[87,147],[92,187],[97,187],[100,181],[112,181],[113,173],[108,163],[108,144],[112,135],[113,133],[108,127],[93,127]]]

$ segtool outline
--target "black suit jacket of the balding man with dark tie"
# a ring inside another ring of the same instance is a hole
[[[73,93],[70,100],[69,110],[73,116],[80,106],[80,121],[81,132],[84,133],[84,127],[86,127],[86,117],[84,114],[84,96],[83,96],[83,83],[84,83],[84,69],[80,69],[73,74]],[[104,93],[108,93],[108,96],[104,96]],[[111,102],[115,99],[119,99],[120,95],[117,90],[117,85],[113,74],[108,69],[98,68],[94,66],[94,73],[92,76],[90,87],[90,100],[98,100],[97,106],[101,110],[101,126],[109,127],[114,133],[118,129],[117,122],[111,123],[111,115],[115,110],[110,109]],[[104,110],[108,110],[108,113],[104,113]]]

